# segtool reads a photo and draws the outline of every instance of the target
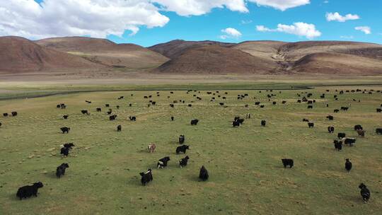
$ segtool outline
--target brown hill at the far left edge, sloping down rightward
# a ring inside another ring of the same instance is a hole
[[[50,50],[23,37],[0,37],[0,71],[96,69],[100,65],[81,57]]]

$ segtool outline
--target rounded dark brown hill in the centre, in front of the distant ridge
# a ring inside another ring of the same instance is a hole
[[[241,50],[208,45],[185,50],[180,56],[171,59],[158,71],[168,73],[201,74],[266,74],[274,70],[275,64],[269,64],[261,58]]]

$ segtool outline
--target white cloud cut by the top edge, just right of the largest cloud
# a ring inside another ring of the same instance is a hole
[[[161,4],[163,10],[173,11],[180,16],[199,16],[212,8],[228,8],[231,11],[248,12],[244,0],[150,0]]]

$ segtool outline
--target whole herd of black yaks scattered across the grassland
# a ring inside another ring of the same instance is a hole
[[[330,90],[327,90],[327,92],[329,92]],[[194,91],[195,93],[197,91]],[[276,96],[275,94],[273,94],[272,90],[267,90],[267,92],[271,92],[271,94],[268,94],[267,95],[267,98],[268,100],[270,101],[272,97]],[[335,92],[338,94],[343,94],[343,93],[355,93],[355,92],[361,92],[361,93],[369,93],[369,94],[372,94],[374,93],[374,90],[369,90],[369,91],[366,91],[366,90],[360,90],[360,89],[357,89],[357,90],[354,90],[354,91],[337,91],[335,90]],[[192,93],[192,91],[187,91],[187,94],[188,93]],[[200,91],[199,91],[200,93]],[[259,93],[262,93],[261,91],[259,91]],[[279,93],[282,93],[281,91],[279,91]],[[381,91],[376,91],[376,93],[382,93]],[[173,92],[171,91],[170,94],[173,94]],[[226,97],[225,96],[221,96],[219,95],[219,91],[216,91],[216,93],[214,92],[207,92],[208,95],[211,95],[212,96],[215,96],[217,95],[219,98],[222,98],[223,100],[226,100]],[[228,93],[225,92],[225,94],[227,95]],[[157,96],[160,96],[160,93],[157,92],[156,93]],[[316,103],[316,100],[310,100],[309,98],[311,98],[313,94],[312,93],[307,93],[307,92],[301,92],[301,93],[297,93],[297,96],[299,97],[299,99],[297,100],[297,103],[307,103],[308,104],[308,109],[313,109],[313,103]],[[131,94],[131,96],[134,96],[133,94]],[[198,97],[196,94],[193,95],[195,98],[197,98],[198,100],[202,100],[202,98]],[[247,97],[248,94],[245,93],[243,95],[238,95],[238,100],[243,100],[243,98]],[[325,93],[323,93],[322,95],[320,95],[320,98],[325,98]],[[120,98],[117,98],[118,100],[120,99],[124,99],[125,97],[124,96],[120,96]],[[147,95],[147,96],[144,96],[144,99],[149,99],[149,98],[152,98],[152,95]],[[168,96],[168,98],[170,98],[170,96]],[[216,98],[215,97],[212,97],[211,98],[211,101],[214,101]],[[338,100],[338,97],[337,95],[334,95],[334,99],[335,100]],[[357,102],[357,100],[354,100],[355,102]],[[170,108],[174,108],[175,106],[175,103],[185,103],[185,100],[174,100],[173,103],[170,104]],[[361,102],[360,100],[358,100],[358,102]],[[91,103],[91,101],[89,100],[86,100],[86,103]],[[287,103],[287,101],[283,100],[282,101],[282,104],[285,104]],[[273,101],[272,102],[272,105],[276,105],[277,102]],[[150,107],[150,105],[156,105],[156,102],[153,101],[153,100],[149,100],[149,104],[148,106]],[[219,105],[221,106],[224,106],[224,108],[226,108],[227,106],[224,104],[224,103],[219,103]],[[260,102],[255,102],[255,105],[258,105],[260,108],[264,108],[265,105],[262,105]],[[129,104],[129,107],[131,107],[132,104],[130,103]],[[106,108],[109,108],[108,109],[108,112],[107,114],[109,115],[109,120],[116,120],[117,118],[117,115],[111,115],[112,114],[112,109],[110,109],[110,105],[109,104],[105,104],[105,107]],[[192,107],[192,104],[189,104],[188,107]],[[248,105],[245,105],[246,108],[248,108]],[[326,107],[328,108],[329,105],[326,104]],[[382,107],[382,104],[381,104],[381,107]],[[61,108],[61,109],[65,109],[66,108],[66,105],[64,103],[61,103],[59,105],[57,105],[57,108]],[[119,105],[116,106],[117,109],[120,108]],[[340,110],[342,111],[347,111],[349,109],[349,107],[341,107]],[[340,110],[338,109],[335,109],[334,112],[340,112]],[[101,112],[102,111],[102,108],[96,108],[96,111],[97,112]],[[381,108],[376,108],[376,112],[381,112]],[[88,110],[81,110],[81,113],[82,114],[86,114],[86,115],[90,115],[90,112],[88,112]],[[17,112],[11,112],[11,115],[13,117],[16,117],[18,115]],[[4,113],[3,114],[4,117],[8,117],[8,113]],[[63,119],[64,120],[67,120],[69,118],[69,115],[63,115]],[[331,115],[328,115],[326,117],[328,120],[334,120],[334,117],[331,116]],[[245,115],[245,119],[250,119],[250,114],[248,113],[247,115]],[[245,121],[245,119],[241,118],[241,117],[235,117],[233,119],[233,122],[232,122],[232,126],[233,127],[240,127],[241,124],[243,124],[243,122]],[[130,121],[136,121],[137,120],[137,117],[135,116],[130,116],[129,117],[129,120]],[[170,120],[174,120],[174,117],[170,117]],[[194,120],[191,120],[190,124],[191,125],[194,125],[196,126],[198,124],[199,120],[197,119],[194,119]],[[310,122],[309,120],[307,119],[303,119],[303,122],[307,122],[308,123],[308,127],[309,128],[313,128],[314,127],[314,122]],[[261,126],[262,127],[265,127],[266,126],[266,121],[265,120],[261,120],[260,122]],[[0,122],[0,127],[1,127],[1,122]],[[69,133],[70,131],[70,128],[69,127],[62,127],[60,128],[62,133]],[[357,134],[361,137],[365,136],[365,131],[364,129],[362,128],[362,126],[360,124],[357,124],[354,126],[354,130],[357,132]],[[121,125],[118,125],[117,126],[117,132],[121,132],[122,131],[122,126]],[[335,127],[328,127],[328,132],[329,133],[334,133],[335,131]],[[376,134],[382,134],[382,128],[376,128]],[[355,142],[357,139],[355,138],[348,138],[346,137],[346,134],[345,133],[342,133],[342,132],[339,132],[337,134],[337,137],[338,139],[335,139],[334,140],[334,146],[335,146],[335,150],[337,151],[340,151],[342,150],[342,144],[345,144],[347,146],[354,146]],[[189,149],[189,146],[187,145],[184,145],[185,143],[185,135],[180,135],[179,136],[179,144],[180,146],[178,146],[176,148],[176,153],[179,154],[180,152],[182,153],[186,153],[187,149]],[[69,152],[71,151],[71,149],[74,147],[74,144],[73,143],[66,143],[66,144],[63,144],[62,145],[62,149],[60,151],[60,153],[62,154],[62,156],[69,156]],[[149,144],[148,146],[148,151],[150,153],[153,153],[156,149],[156,145],[155,144]],[[187,161],[189,160],[189,156],[185,156],[185,158],[182,158],[180,159],[179,161],[179,165],[180,165],[180,168],[183,168],[187,165]],[[168,161],[170,161],[170,157],[169,156],[166,156],[164,158],[161,158],[159,159],[158,163],[157,163],[157,167],[158,168],[166,168],[166,166],[168,165]],[[294,165],[294,160],[291,159],[291,158],[282,158],[282,165],[284,165],[284,168],[287,168],[287,166],[289,166],[289,168],[292,168],[293,165]],[[59,165],[57,167],[57,170],[56,170],[56,176],[57,178],[60,178],[62,177],[62,175],[65,175],[65,170],[66,168],[69,168],[69,164],[68,163],[62,163],[61,165]],[[349,158],[346,158],[346,162],[345,162],[345,169],[349,172],[351,169],[352,169],[352,162],[350,161]],[[143,173],[139,173],[139,175],[141,175],[141,184],[142,185],[146,185],[147,183],[151,182],[153,180],[153,175],[152,175],[152,170],[151,169],[148,169],[146,172],[143,172]],[[199,170],[199,179],[202,180],[202,181],[206,181],[208,180],[209,178],[209,173],[207,171],[207,169],[204,167],[204,165],[202,165],[202,167],[200,168]],[[37,197],[37,190],[41,187],[43,187],[44,185],[42,184],[42,182],[35,182],[33,183],[32,185],[26,185],[26,186],[23,186],[23,187],[20,187],[16,193],[16,196],[20,199],[23,199],[23,198],[28,198],[28,197],[32,197],[32,196],[35,196]],[[361,193],[361,197],[362,199],[364,200],[364,203],[366,203],[369,198],[370,198],[370,191],[369,189],[366,187],[366,185],[364,185],[364,183],[361,183],[359,185],[359,189],[361,190],[360,193]]]

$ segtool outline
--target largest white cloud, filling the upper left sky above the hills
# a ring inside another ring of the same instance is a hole
[[[0,4],[0,35],[37,39],[53,36],[122,36],[125,30],[162,27],[169,18],[149,2],[131,0],[8,0]]]

